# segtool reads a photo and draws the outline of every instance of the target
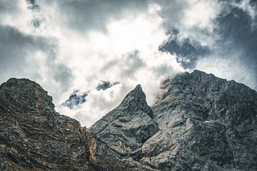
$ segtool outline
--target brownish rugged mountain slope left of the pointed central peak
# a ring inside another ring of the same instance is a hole
[[[86,141],[85,128],[56,113],[39,84],[11,78],[0,86],[0,170],[120,170],[92,162]]]

